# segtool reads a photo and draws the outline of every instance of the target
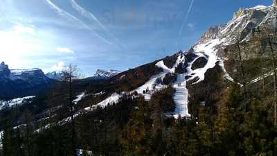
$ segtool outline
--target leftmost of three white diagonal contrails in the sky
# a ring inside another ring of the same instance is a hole
[[[82,25],[84,28],[87,28],[89,31],[91,31],[94,35],[96,35],[98,38],[100,38],[101,40],[103,40],[104,42],[106,42],[107,44],[110,44],[111,46],[114,46],[114,44],[112,44],[111,42],[107,41],[104,37],[100,36],[98,33],[96,33],[92,28],[90,28],[89,26],[87,26],[87,24],[84,24],[84,22],[80,21],[80,19],[78,19],[77,17],[74,17],[73,15],[71,15],[69,12],[66,12],[65,10],[62,10],[62,8],[59,8],[58,6],[56,6],[52,1],[50,0],[45,0],[46,3],[48,3],[48,5],[55,10],[55,12],[57,12],[58,15],[60,15],[61,17],[64,17],[66,19],[69,19],[70,21],[75,21],[78,24]]]

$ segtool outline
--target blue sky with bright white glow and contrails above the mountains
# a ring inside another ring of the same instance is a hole
[[[86,76],[97,69],[124,71],[189,49],[207,28],[228,22],[240,7],[271,3],[1,0],[0,61],[11,69],[39,67],[44,72],[72,63]]]

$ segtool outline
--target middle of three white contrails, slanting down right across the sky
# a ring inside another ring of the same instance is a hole
[[[127,46],[125,46],[123,43],[121,43],[114,35],[112,35],[109,32],[109,29],[104,26],[104,24],[101,23],[101,21],[98,20],[98,18],[93,15],[92,12],[89,12],[88,10],[82,8],[82,6],[78,5],[78,3],[75,0],[71,0],[71,6],[77,10],[81,15],[83,15],[84,17],[87,17],[88,19],[90,19],[91,21],[96,21],[101,27],[102,29],[104,29],[112,38],[114,38],[121,46],[123,46],[125,49],[127,49]]]

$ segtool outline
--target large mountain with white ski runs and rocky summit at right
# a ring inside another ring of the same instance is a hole
[[[276,41],[276,17],[276,5],[240,8],[227,24],[209,28],[189,51],[179,51],[175,55],[118,73],[111,78],[111,85],[119,88],[116,88],[117,93],[84,110],[93,110],[98,106],[106,107],[108,103],[117,103],[124,94],[134,92],[149,101],[154,92],[168,86],[161,82],[168,79],[168,76],[172,76],[173,81],[170,85],[175,88],[175,94],[172,95],[175,101],[175,112],[169,112],[168,115],[190,116],[188,105],[206,103],[205,99],[210,97],[207,97],[205,92],[211,92],[209,88],[205,91],[207,83],[210,83],[208,86],[216,87],[213,84],[217,82],[210,78],[217,73],[222,74],[226,82],[224,84],[231,83],[234,79],[240,85],[242,81],[247,81],[249,84],[253,80],[257,82],[259,72],[251,73],[251,76],[244,80],[238,79],[241,72],[238,59],[241,62],[255,62],[259,57],[257,53],[260,53],[260,42],[263,55],[265,57],[270,55],[267,53],[269,51],[267,36],[262,32],[273,35],[273,40]],[[241,52],[239,58],[238,51]],[[257,67],[247,65],[244,67],[249,72],[255,68]],[[270,74],[265,74],[267,75]],[[226,90],[224,84],[220,88],[215,88],[217,94]],[[121,91],[121,94],[118,94],[118,91]]]

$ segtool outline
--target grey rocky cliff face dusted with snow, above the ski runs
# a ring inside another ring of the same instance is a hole
[[[277,8],[274,6],[240,8],[226,25],[208,29],[194,47],[217,40],[215,51],[224,60],[235,57],[239,42],[243,60],[256,58],[261,50],[268,51],[266,34],[272,35],[276,41],[276,17]]]

